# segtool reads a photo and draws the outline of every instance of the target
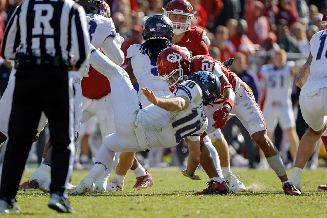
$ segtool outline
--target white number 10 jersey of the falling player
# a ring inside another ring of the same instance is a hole
[[[155,147],[170,148],[187,137],[196,141],[207,128],[207,118],[202,105],[202,91],[198,84],[186,80],[177,90],[164,98],[186,96],[190,100],[188,108],[179,112],[169,112],[150,104],[140,109],[135,125],[142,131],[135,131],[142,149]]]

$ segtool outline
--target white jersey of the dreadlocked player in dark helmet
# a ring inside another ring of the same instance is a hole
[[[152,91],[169,91],[167,83],[159,77],[157,70],[157,59],[151,60],[146,54],[143,55],[140,50],[141,45],[142,44],[134,44],[129,46],[126,55],[127,60],[131,60],[134,76],[136,77],[140,88],[148,88]],[[190,57],[190,53],[186,47],[177,45],[173,46],[181,48],[186,55]],[[140,90],[139,92],[142,91]]]

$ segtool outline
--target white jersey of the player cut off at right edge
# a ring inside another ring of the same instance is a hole
[[[327,30],[321,30],[312,36],[310,40],[312,62],[310,75],[301,88],[301,94],[305,95],[319,88],[327,87]]]

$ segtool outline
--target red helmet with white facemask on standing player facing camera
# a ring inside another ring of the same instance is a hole
[[[185,23],[174,22],[174,33],[179,35],[183,32],[187,32],[191,28],[191,20],[194,18],[194,11],[192,5],[186,0],[172,0],[163,10],[163,15],[169,18],[169,14],[181,14],[186,15]]]

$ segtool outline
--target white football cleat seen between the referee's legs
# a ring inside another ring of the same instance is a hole
[[[43,192],[50,191],[51,168],[45,164],[41,164],[36,171],[29,177],[29,185],[33,189],[40,189]]]

